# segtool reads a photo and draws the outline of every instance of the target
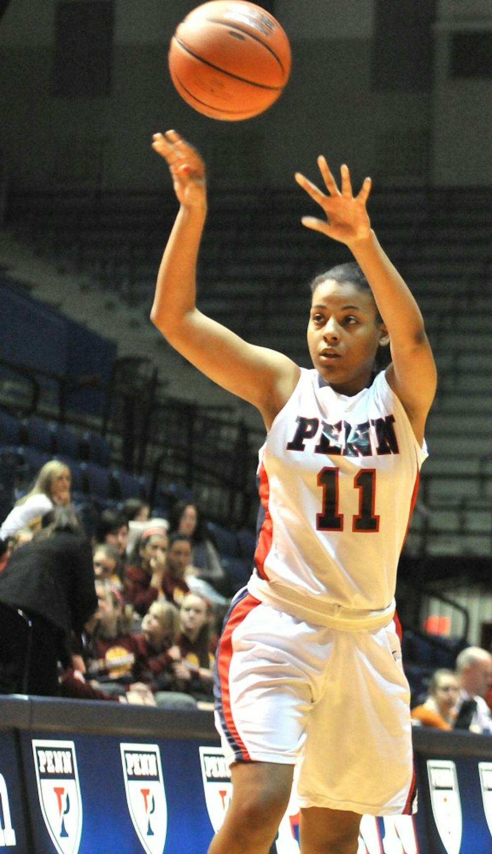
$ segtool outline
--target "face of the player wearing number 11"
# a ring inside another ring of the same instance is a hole
[[[384,334],[369,292],[333,279],[314,291],[307,324],[309,354],[313,366],[337,392],[356,395],[366,387]]]

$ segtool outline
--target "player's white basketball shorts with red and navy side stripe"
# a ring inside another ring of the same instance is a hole
[[[214,693],[228,763],[297,763],[301,807],[413,811],[410,691],[395,623],[315,626],[245,588],[220,637]]]

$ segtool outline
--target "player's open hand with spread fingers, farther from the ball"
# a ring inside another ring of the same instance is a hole
[[[316,219],[313,216],[303,216],[302,225],[313,231],[320,231],[327,237],[332,237],[346,246],[351,246],[360,240],[365,240],[371,233],[371,222],[366,211],[367,197],[371,191],[371,178],[365,178],[357,196],[354,196],[348,166],[340,168],[342,175],[341,190],[331,174],[330,167],[323,155],[318,158],[319,172],[325,182],[328,193],[323,193],[308,178],[296,172],[297,184],[300,184],[307,195],[323,208],[326,219]]]

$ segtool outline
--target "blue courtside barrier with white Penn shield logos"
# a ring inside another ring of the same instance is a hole
[[[358,854],[490,854],[492,738],[413,730],[416,816],[364,816]],[[208,711],[0,698],[0,851],[205,854],[231,781]],[[271,854],[298,854],[293,794]]]

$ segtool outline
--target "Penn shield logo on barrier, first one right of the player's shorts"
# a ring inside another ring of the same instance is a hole
[[[428,759],[430,803],[446,854],[460,854],[463,820],[456,766],[450,759]]]

